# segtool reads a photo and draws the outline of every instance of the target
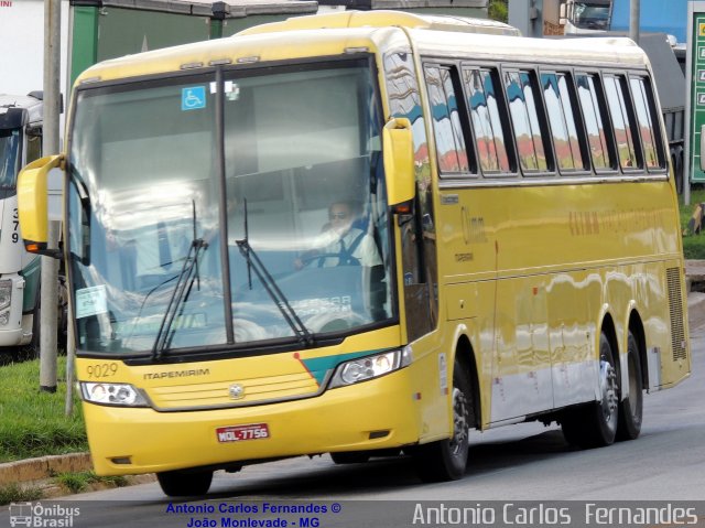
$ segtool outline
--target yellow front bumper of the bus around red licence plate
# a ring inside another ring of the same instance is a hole
[[[156,412],[84,402],[98,475],[153,473],[283,456],[397,448],[419,441],[409,369],[318,397],[231,409]],[[265,424],[268,438],[224,441],[218,431]]]

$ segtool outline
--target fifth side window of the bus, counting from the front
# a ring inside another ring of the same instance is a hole
[[[616,170],[615,158],[606,133],[605,96],[597,74],[578,74],[575,77],[577,96],[587,132],[593,166],[596,171]]]

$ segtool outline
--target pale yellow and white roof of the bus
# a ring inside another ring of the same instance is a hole
[[[487,22],[487,21],[479,21]],[[410,47],[429,56],[460,56],[503,62],[599,64],[615,68],[644,66],[648,58],[625,37],[555,41],[492,34],[507,24],[479,24],[471,19],[429,17],[397,11],[346,11],[300,17],[263,24],[227,39],[128,55],[99,63],[77,83],[192,69],[215,64],[335,56],[354,50],[370,52]],[[402,31],[400,28],[405,28]],[[488,31],[482,31],[486,29]],[[282,37],[282,33],[286,33]],[[481,33],[481,34],[480,34]],[[470,53],[468,53],[468,51]]]

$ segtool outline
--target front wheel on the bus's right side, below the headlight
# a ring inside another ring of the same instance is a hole
[[[413,451],[416,472],[423,482],[457,481],[468,460],[473,390],[467,373],[455,362],[453,368],[453,437],[420,445]]]

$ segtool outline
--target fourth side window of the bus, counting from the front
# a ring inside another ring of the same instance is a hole
[[[566,74],[541,74],[555,158],[562,170],[585,169]]]

